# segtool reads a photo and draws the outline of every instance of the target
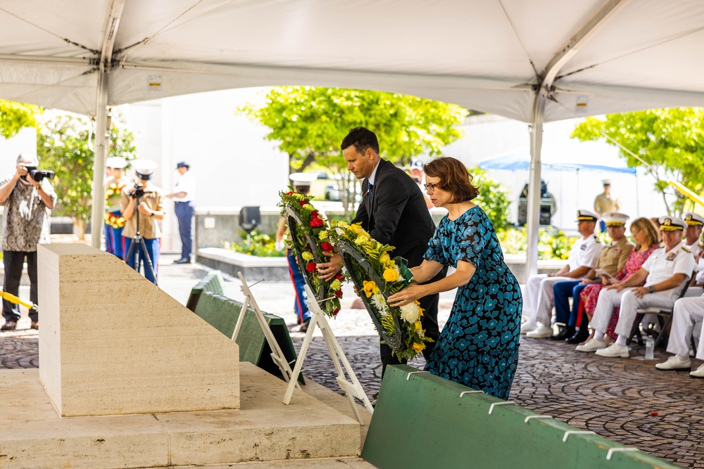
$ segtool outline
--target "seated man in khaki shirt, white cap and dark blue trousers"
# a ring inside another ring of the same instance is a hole
[[[601,216],[606,224],[606,229],[611,238],[611,243],[601,248],[596,264],[586,276],[579,281],[565,281],[555,283],[553,294],[555,295],[555,323],[567,324],[560,327],[560,332],[551,335],[552,340],[570,340],[570,343],[579,344],[589,336],[587,323],[589,320],[582,311],[582,318],[579,317],[579,294],[592,283],[601,283],[601,278],[596,269],[603,269],[610,276],[616,276],[626,266],[626,261],[634,245],[629,243],[626,237],[627,214],[617,212],[606,212]],[[570,311],[569,299],[572,297],[572,310]],[[569,319],[568,319],[569,318]],[[577,324],[579,323],[579,332]]]

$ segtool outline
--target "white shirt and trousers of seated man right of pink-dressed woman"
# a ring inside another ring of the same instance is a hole
[[[685,281],[689,281],[694,269],[694,257],[684,247],[684,241],[682,241],[672,250],[665,251],[665,248],[655,250],[643,263],[641,269],[648,271],[646,287],[672,278],[674,274],[684,274]],[[628,337],[631,333],[633,320],[636,318],[636,309],[672,308],[681,290],[681,285],[670,288],[670,290],[647,293],[642,298],[636,297],[631,290],[632,288],[625,288],[620,292],[615,289],[601,290],[594,316],[591,319],[591,327],[596,330],[606,330],[614,307],[620,306],[616,333]]]

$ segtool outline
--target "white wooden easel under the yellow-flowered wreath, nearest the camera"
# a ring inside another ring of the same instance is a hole
[[[330,352],[332,363],[334,364],[335,370],[337,371],[337,384],[345,392],[347,399],[350,402],[350,406],[352,407],[352,411],[357,417],[357,421],[364,425],[364,421],[362,420],[362,416],[360,416],[359,409],[357,408],[357,404],[355,403],[354,398],[356,397],[357,399],[360,399],[360,401],[363,401],[364,406],[370,414],[374,413],[372,403],[369,401],[369,398],[364,392],[364,389],[359,383],[359,380],[354,374],[354,371],[352,371],[352,367],[350,366],[347,357],[345,356],[344,352],[342,352],[340,343],[337,342],[337,338],[335,338],[335,335],[332,333],[332,330],[330,330],[330,325],[327,322],[325,313],[322,312],[322,310],[320,309],[320,304],[318,304],[318,301],[315,300],[315,295],[313,295],[313,291],[310,290],[310,287],[308,285],[306,285],[305,288],[306,294],[308,295],[310,323],[308,324],[308,332],[306,333],[306,337],[303,338],[303,345],[301,345],[301,351],[298,352],[298,357],[296,358],[296,366],[294,366],[294,373],[293,375],[291,375],[291,380],[289,381],[289,385],[286,389],[286,394],[284,394],[284,404],[288,405],[291,402],[291,396],[294,394],[294,387],[291,383],[296,383],[296,381],[298,380],[298,375],[301,374],[303,360],[306,358],[306,352],[308,352],[308,346],[310,345],[310,341],[313,340],[313,332],[315,332],[315,326],[318,326],[320,327],[320,332],[322,332],[322,337],[325,339],[325,345],[327,345],[327,350],[328,352]],[[347,375],[350,377],[351,382],[348,381],[345,377],[345,373],[342,369],[343,366],[344,370],[347,371]]]

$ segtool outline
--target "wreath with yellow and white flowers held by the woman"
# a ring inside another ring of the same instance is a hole
[[[423,310],[415,301],[392,307],[386,298],[406,288],[413,274],[406,259],[389,257],[392,246],[379,243],[358,224],[338,221],[331,224],[327,236],[334,240],[348,276],[372,317],[379,337],[391,347],[398,359],[412,359],[425,349],[431,338],[425,337],[420,318]]]

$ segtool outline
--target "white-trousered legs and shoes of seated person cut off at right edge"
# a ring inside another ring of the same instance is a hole
[[[689,370],[689,341],[697,324],[704,319],[704,297],[680,298],[674,303],[672,311],[672,328],[670,340],[667,342],[667,352],[674,354],[667,361],[655,365],[658,370]],[[704,333],[699,326],[699,345],[697,358],[704,360]],[[704,378],[704,364],[689,373],[692,378]]]

